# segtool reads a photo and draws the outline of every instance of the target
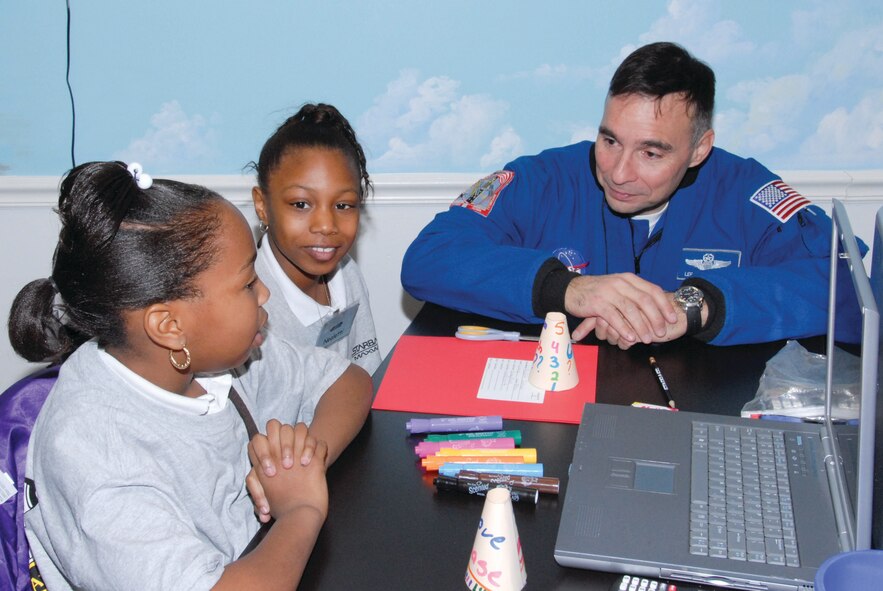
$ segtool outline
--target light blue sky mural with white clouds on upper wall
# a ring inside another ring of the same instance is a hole
[[[71,4],[78,162],[238,174],[305,101],[377,172],[481,172],[593,139],[635,47],[718,78],[717,145],[773,169],[883,168],[883,3],[91,0]],[[0,174],[71,165],[66,7],[0,1]]]

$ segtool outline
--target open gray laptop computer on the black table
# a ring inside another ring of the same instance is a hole
[[[880,316],[836,200],[832,218],[828,334],[837,334],[836,302],[853,300],[861,313],[861,363],[835,363],[843,352],[828,339],[824,421],[587,404],[555,544],[559,564],[735,589],[808,591],[826,558],[869,547]],[[859,366],[859,422],[837,424],[830,419],[834,370]],[[739,464],[739,454],[719,444],[758,459]]]

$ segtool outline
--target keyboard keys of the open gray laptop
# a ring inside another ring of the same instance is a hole
[[[789,451],[777,429],[693,423],[691,554],[800,566]]]

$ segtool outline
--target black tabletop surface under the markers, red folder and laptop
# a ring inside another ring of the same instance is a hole
[[[460,324],[526,334],[538,334],[540,328],[426,304],[405,334],[451,336]],[[648,365],[653,355],[680,409],[738,415],[754,397],[766,361],[783,345],[712,347],[682,339],[621,351],[601,344],[597,402],[665,404]],[[375,387],[390,356],[374,376]],[[421,472],[414,454],[421,438],[409,436],[405,428],[412,416],[433,415],[371,411],[361,433],[329,469],[328,520],[300,589],[466,588],[466,565],[484,499],[435,491],[432,474]],[[560,496],[540,495],[537,505],[514,505],[526,589],[609,589],[616,575],[564,568],[553,557],[577,426],[506,420],[504,428],[520,429],[522,446],[536,447],[546,475],[561,479]]]

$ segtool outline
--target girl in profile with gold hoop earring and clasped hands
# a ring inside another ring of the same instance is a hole
[[[64,362],[26,467],[47,587],[294,588],[369,377],[262,333],[252,235],[218,194],[93,162],[65,177],[58,212],[52,275],[9,319],[20,355]],[[266,433],[249,442],[255,423]],[[247,475],[276,521],[240,557],[261,521]]]

